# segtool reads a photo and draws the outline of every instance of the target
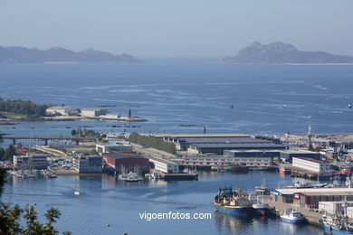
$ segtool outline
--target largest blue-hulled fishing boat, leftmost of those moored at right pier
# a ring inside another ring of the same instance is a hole
[[[232,215],[248,215],[253,211],[252,203],[248,195],[240,189],[233,191],[232,188],[220,188],[215,196],[215,209]]]

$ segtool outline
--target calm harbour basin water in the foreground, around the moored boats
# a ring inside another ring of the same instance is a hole
[[[119,183],[113,177],[60,176],[56,179],[10,179],[3,202],[36,204],[38,211],[57,207],[62,211],[60,230],[73,234],[323,234],[310,225],[293,225],[276,218],[234,218],[215,212],[212,201],[220,186],[242,186],[253,191],[262,179],[270,187],[291,183],[290,176],[276,173],[201,173],[199,181]],[[80,191],[75,196],[74,191]],[[211,220],[143,221],[143,212],[209,212]],[[106,224],[111,224],[107,227]]]

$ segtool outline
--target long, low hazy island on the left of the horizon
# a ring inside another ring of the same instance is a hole
[[[46,51],[37,48],[1,47],[0,63],[99,63],[99,62],[142,62],[127,53],[112,54],[86,49],[72,52],[60,47]]]

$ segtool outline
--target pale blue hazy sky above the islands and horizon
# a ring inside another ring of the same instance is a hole
[[[353,55],[353,0],[0,0],[0,45],[234,55],[253,41]]]

